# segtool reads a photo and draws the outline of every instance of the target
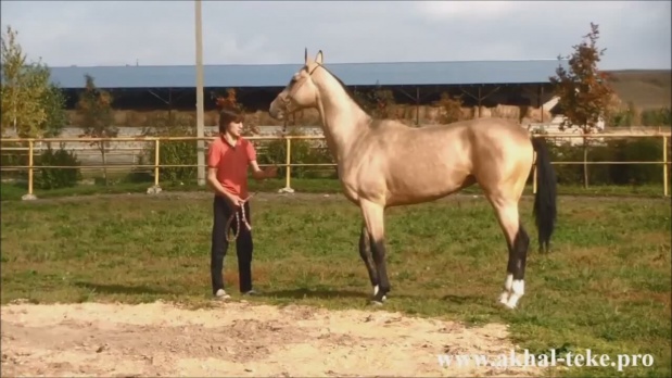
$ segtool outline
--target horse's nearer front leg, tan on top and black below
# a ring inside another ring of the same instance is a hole
[[[359,206],[370,236],[371,254],[373,255],[373,263],[378,272],[378,285],[373,286],[373,298],[371,302],[375,304],[382,304],[386,299],[388,292],[390,292],[390,280],[388,279],[388,266],[385,263],[384,207],[369,201],[362,201]]]

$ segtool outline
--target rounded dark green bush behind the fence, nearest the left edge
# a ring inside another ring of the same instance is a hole
[[[45,167],[35,176],[35,187],[45,190],[75,187],[81,179],[81,169],[78,168],[80,165],[77,156],[72,151],[65,150],[63,144],[55,151],[48,144],[47,151],[35,162],[37,168]],[[47,168],[51,166],[63,168]],[[73,168],[66,168],[71,166]]]

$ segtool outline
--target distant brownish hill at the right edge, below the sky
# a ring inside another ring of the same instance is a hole
[[[623,104],[632,101],[641,110],[670,108],[672,71],[624,70],[605,71]]]

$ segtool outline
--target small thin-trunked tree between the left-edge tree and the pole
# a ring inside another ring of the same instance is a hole
[[[84,137],[89,138],[114,138],[119,133],[113,125],[114,115],[112,113],[112,96],[106,90],[98,89],[93,83],[93,77],[85,75],[86,87],[79,93],[77,112],[81,114],[84,122]],[[91,146],[97,146],[103,162],[103,181],[107,185],[107,160],[105,152],[109,141],[93,141]]]

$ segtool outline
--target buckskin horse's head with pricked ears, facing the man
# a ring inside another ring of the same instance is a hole
[[[292,76],[290,83],[272,100],[268,114],[275,119],[284,119],[288,114],[306,108],[317,108],[317,87],[312,74],[322,64],[322,51],[315,59],[308,59],[305,50],[305,64]]]

